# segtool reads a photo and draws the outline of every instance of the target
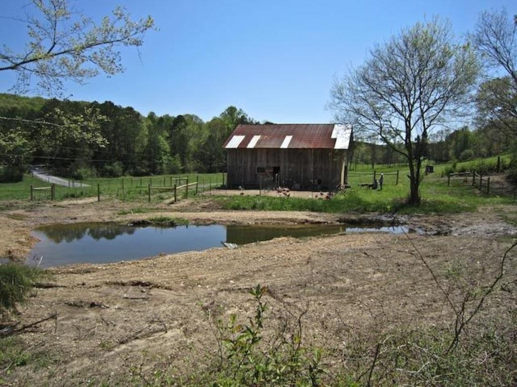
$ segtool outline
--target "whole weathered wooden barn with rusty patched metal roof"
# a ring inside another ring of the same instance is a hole
[[[238,125],[226,139],[227,186],[335,189],[346,183],[351,125]]]

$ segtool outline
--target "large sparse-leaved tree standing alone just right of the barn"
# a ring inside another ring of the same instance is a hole
[[[331,107],[356,134],[374,135],[407,159],[408,203],[416,205],[429,135],[466,112],[477,74],[473,50],[435,18],[375,45],[362,66],[334,80]]]

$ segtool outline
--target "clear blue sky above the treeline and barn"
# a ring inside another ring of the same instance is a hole
[[[0,0],[0,15],[21,17],[29,0]],[[235,105],[257,120],[330,122],[334,75],[360,65],[369,47],[424,18],[440,15],[463,35],[484,9],[510,1],[78,0],[99,20],[117,4],[135,18],[150,14],[158,31],[140,53],[123,50],[126,71],[86,85],[67,84],[70,99],[110,100],[142,114],[192,113],[204,120]],[[26,27],[0,19],[2,43],[23,47]],[[139,55],[140,54],[140,55]],[[14,74],[0,73],[0,92]]]

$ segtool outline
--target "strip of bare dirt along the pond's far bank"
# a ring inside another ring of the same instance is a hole
[[[323,214],[282,211],[221,211],[207,201],[185,200],[176,205],[146,206],[139,203],[90,199],[52,203],[3,203],[0,211],[0,254],[24,258],[37,242],[31,230],[52,223],[148,222],[153,217],[183,218],[192,224],[407,224],[430,235],[516,235],[514,206],[481,208],[454,215]],[[194,211],[195,210],[195,211]],[[512,216],[514,221],[512,222]]]

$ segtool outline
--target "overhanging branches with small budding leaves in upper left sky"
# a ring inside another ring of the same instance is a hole
[[[37,86],[48,94],[59,94],[64,80],[78,83],[99,72],[113,75],[123,71],[119,46],[140,46],[145,32],[153,28],[148,16],[132,21],[121,7],[100,23],[74,12],[68,0],[32,0],[24,19],[28,41],[21,50],[0,47],[0,71],[15,71],[17,91]]]

